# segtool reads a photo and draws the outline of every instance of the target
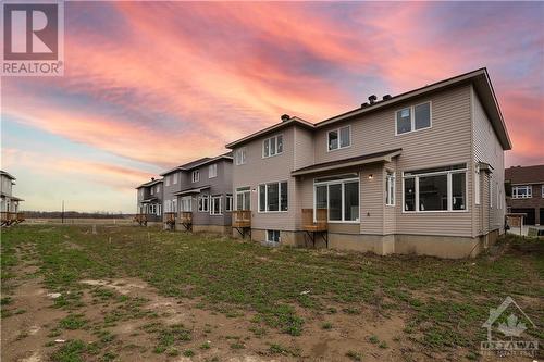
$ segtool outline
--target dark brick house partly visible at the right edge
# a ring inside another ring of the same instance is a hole
[[[508,212],[527,214],[524,224],[544,224],[544,165],[506,168],[505,180],[511,186]]]

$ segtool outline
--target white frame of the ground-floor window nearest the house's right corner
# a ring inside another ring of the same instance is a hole
[[[462,164],[462,163],[459,163],[459,164]],[[455,164],[455,165],[457,165],[457,164]],[[440,167],[440,166],[437,166],[437,167]],[[413,170],[411,172],[418,172],[418,171],[419,170]],[[434,213],[445,213],[445,212],[459,213],[459,212],[468,212],[469,211],[469,204],[468,204],[469,185],[468,185],[468,168],[467,168],[467,166],[465,166],[465,168],[459,168],[459,170],[430,172],[430,173],[424,173],[424,174],[422,173],[422,174],[408,175],[408,176],[406,176],[406,173],[410,173],[410,172],[403,172],[403,205],[401,205],[403,213],[405,213],[405,214],[413,214],[413,213],[423,214],[423,213],[433,213],[433,212]],[[453,174],[461,174],[461,173],[465,173],[465,198],[466,198],[465,210],[453,210],[454,202],[452,199],[452,195],[453,195],[452,175]],[[447,210],[419,210],[419,178],[420,177],[429,177],[429,176],[441,176],[444,174],[447,175]],[[413,188],[416,190],[416,210],[410,210],[410,211],[406,210],[406,201],[405,201],[405,196],[406,196],[405,180],[407,178],[415,178]]]

